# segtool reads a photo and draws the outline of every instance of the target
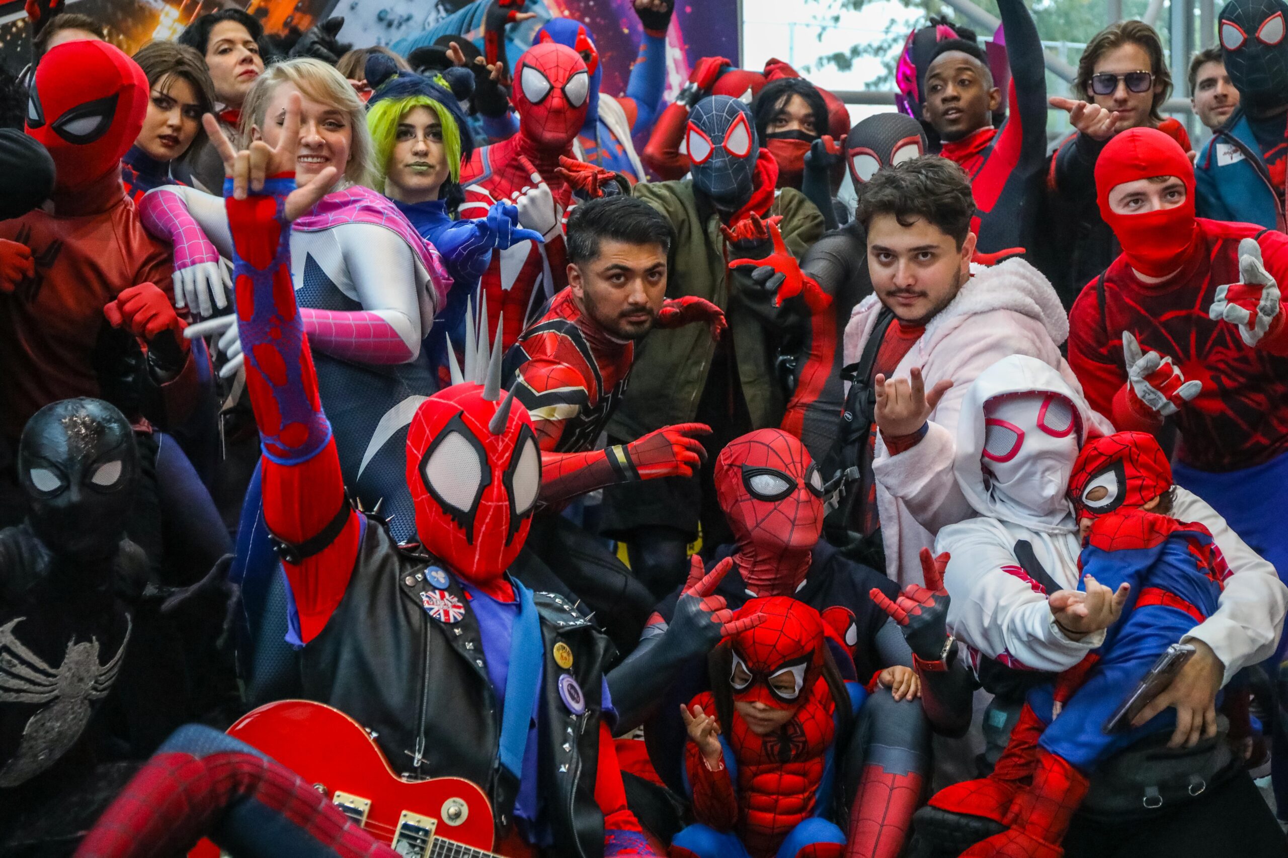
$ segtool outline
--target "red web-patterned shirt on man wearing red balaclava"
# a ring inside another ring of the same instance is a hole
[[[1145,351],[1157,351],[1185,376],[1203,383],[1194,401],[1175,415],[1177,459],[1200,471],[1234,471],[1288,452],[1288,359],[1249,349],[1235,325],[1213,322],[1216,288],[1240,282],[1239,241],[1261,228],[1198,219],[1200,242],[1166,289],[1148,287],[1119,257],[1105,273],[1104,301],[1096,282],[1078,296],[1069,316],[1069,363],[1087,401],[1101,414],[1127,383],[1122,332]],[[1257,238],[1266,270],[1288,283],[1288,235]]]

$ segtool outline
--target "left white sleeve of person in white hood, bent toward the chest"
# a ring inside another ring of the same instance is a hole
[[[944,527],[935,551],[951,553],[944,572],[952,598],[948,630],[990,659],[1010,657],[1033,670],[1057,673],[1104,643],[1103,630],[1081,641],[1065,637],[1046,596],[1003,570],[1020,563],[996,522],[976,518]]]

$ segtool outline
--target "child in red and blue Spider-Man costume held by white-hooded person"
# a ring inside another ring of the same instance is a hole
[[[1131,589],[1104,644],[1029,692],[993,774],[931,799],[1010,826],[963,858],[1059,858],[1088,773],[1115,751],[1175,727],[1176,710],[1164,709],[1139,727],[1103,729],[1158,656],[1216,611],[1229,576],[1207,527],[1168,515],[1171,489],[1171,466],[1151,435],[1119,432],[1082,448],[1069,481],[1083,535],[1082,575]]]

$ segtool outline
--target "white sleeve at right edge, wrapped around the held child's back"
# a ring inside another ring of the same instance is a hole
[[[1182,643],[1197,638],[1212,647],[1225,665],[1227,682],[1242,668],[1274,655],[1288,608],[1288,587],[1216,509],[1180,486],[1175,489],[1172,517],[1204,525],[1230,567],[1216,614],[1181,638]]]

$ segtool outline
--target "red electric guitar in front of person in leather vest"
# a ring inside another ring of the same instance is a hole
[[[371,735],[339,709],[307,700],[260,706],[228,728],[313,783],[350,819],[402,855],[502,858],[492,849],[492,808],[474,783],[457,777],[408,781],[394,774]],[[505,857],[524,858],[511,848]],[[218,858],[202,840],[188,858]]]

